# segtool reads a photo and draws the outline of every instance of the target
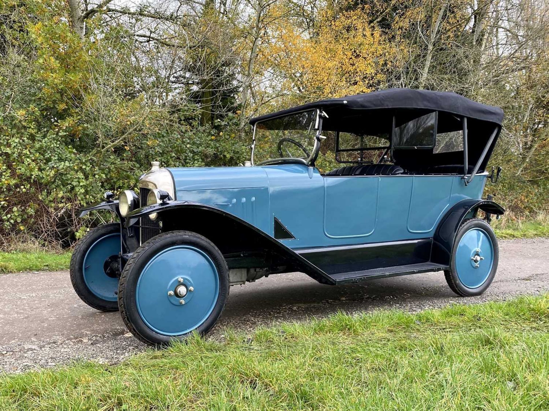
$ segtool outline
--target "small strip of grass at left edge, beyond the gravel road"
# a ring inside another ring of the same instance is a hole
[[[47,251],[0,252],[0,273],[68,270],[70,256],[69,252],[61,254]]]

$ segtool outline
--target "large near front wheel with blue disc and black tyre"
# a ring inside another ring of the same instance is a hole
[[[208,332],[228,295],[227,263],[214,243],[191,231],[170,231],[133,253],[120,277],[118,303],[134,336],[166,345]]]

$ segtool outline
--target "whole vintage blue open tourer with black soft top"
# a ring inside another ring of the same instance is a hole
[[[83,208],[120,223],[79,242],[72,284],[152,345],[208,332],[231,285],[277,273],[339,285],[444,271],[457,295],[479,295],[498,262],[489,223],[504,210],[481,196],[501,171],[489,176],[486,163],[502,118],[454,93],[403,88],[251,119],[244,165],[153,162],[139,195],[107,192]],[[322,173],[320,155],[341,166]]]

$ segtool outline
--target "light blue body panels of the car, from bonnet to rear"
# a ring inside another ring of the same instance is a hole
[[[177,200],[210,205],[274,236],[275,217],[300,248],[433,237],[456,203],[480,199],[486,174],[322,176],[304,164],[171,168]],[[216,187],[212,189],[211,187]]]

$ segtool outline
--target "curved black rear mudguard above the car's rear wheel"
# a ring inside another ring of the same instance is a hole
[[[439,264],[450,264],[453,241],[457,230],[468,214],[477,214],[478,210],[488,214],[502,215],[505,209],[494,201],[484,199],[464,199],[453,205],[440,220],[433,236],[431,261]]]

